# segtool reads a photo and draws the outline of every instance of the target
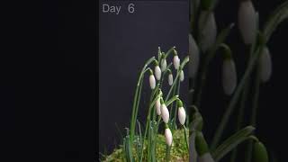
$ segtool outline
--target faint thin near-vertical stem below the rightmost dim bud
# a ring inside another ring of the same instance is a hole
[[[256,127],[257,125],[257,107],[258,107],[258,99],[259,99],[259,90],[260,90],[260,64],[257,62],[257,70],[256,70],[256,79],[255,79],[255,94],[253,97],[252,103],[252,114],[251,114],[251,125]],[[252,148],[253,143],[249,142],[247,145],[246,152],[246,162],[250,162],[252,159]]]

